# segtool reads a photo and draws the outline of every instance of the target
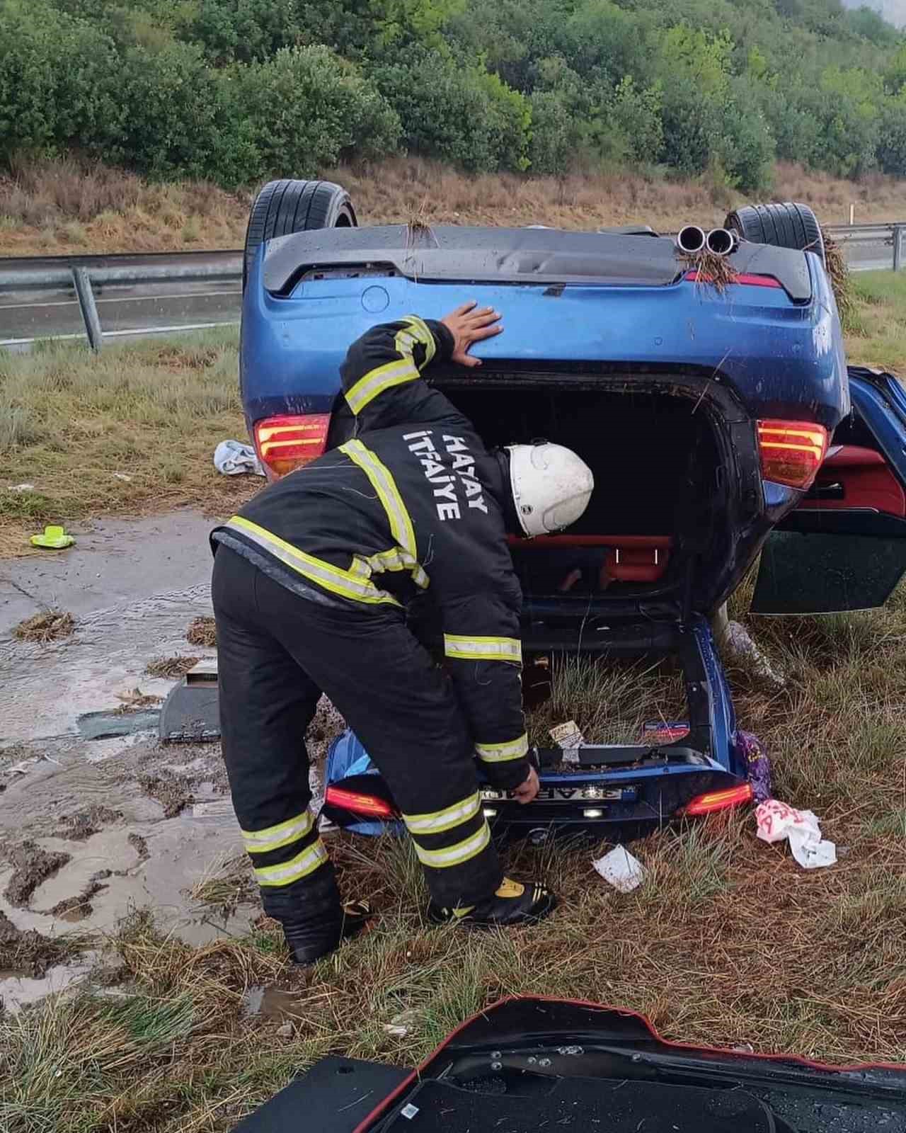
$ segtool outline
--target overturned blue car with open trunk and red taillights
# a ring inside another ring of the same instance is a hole
[[[847,368],[820,227],[795,204],[749,206],[680,237],[424,224],[359,227],[348,194],[275,181],[246,246],[241,391],[268,476],[352,435],[349,343],[409,313],[476,299],[506,333],[480,369],[427,380],[488,445],[544,438],[595,474],[581,520],[511,551],[523,654],[674,657],[687,714],[647,742],[536,749],[525,807],[486,787],[498,830],[619,833],[752,798],[749,756],[710,620],[761,555],[764,614],[883,604],[906,569],[906,395]],[[418,611],[430,645],[430,619]],[[325,813],[364,834],[394,801],[347,733]]]

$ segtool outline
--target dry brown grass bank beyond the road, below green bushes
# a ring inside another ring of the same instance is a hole
[[[532,224],[596,228],[644,221],[675,229],[694,220],[720,224],[738,194],[707,177],[676,182],[629,172],[565,178],[467,177],[420,159],[324,170],[352,194],[362,223]],[[873,176],[843,181],[796,165],[778,165],[776,201],[803,201],[827,224],[866,223],[899,215],[903,184]],[[154,185],[133,173],[74,159],[20,163],[0,178],[0,254],[165,252],[238,248],[251,194],[205,182]]]

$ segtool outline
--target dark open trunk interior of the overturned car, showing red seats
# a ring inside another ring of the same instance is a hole
[[[595,493],[566,531],[513,539],[527,603],[569,596],[680,597],[692,559],[726,530],[716,425],[701,398],[656,390],[506,385],[444,392],[488,446],[567,445],[595,474]]]

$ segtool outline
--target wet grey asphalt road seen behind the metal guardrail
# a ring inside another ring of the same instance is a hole
[[[844,245],[844,253],[855,271],[884,270],[891,265],[891,249],[878,244]],[[178,266],[193,262],[236,265],[238,253],[212,253],[208,256],[160,254],[153,257],[85,256],[86,265],[128,267],[153,261],[159,266]],[[0,259],[0,271],[23,269],[35,271],[58,269],[71,263],[68,257]],[[111,338],[131,338],[148,333],[172,333],[239,322],[241,289],[239,280],[173,281],[169,283],[95,286],[95,300],[101,326]],[[84,337],[84,325],[75,290],[0,292],[0,347],[28,349],[37,338]]]

